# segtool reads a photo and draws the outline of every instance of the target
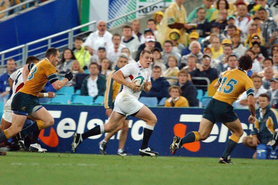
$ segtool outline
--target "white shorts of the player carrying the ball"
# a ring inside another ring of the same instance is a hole
[[[136,97],[122,91],[116,97],[113,111],[128,116],[138,112],[143,106]]]

